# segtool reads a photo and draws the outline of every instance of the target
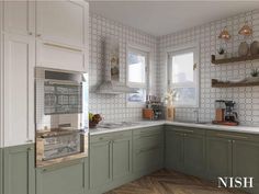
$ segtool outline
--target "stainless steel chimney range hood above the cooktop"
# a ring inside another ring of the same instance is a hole
[[[95,93],[102,94],[121,94],[137,93],[136,89],[127,87],[120,82],[120,45],[116,38],[105,38],[103,42],[104,80],[98,85]]]

